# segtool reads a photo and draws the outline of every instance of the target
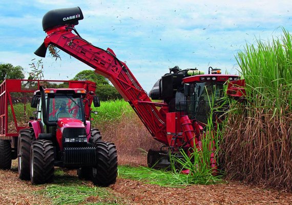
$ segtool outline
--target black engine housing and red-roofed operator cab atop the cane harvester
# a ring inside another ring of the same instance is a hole
[[[211,107],[222,102],[224,85],[228,80],[237,79],[237,75],[222,75],[220,69],[212,67],[204,74],[197,69],[180,70],[176,66],[156,82],[149,96],[163,100],[169,112],[180,112],[207,124]]]

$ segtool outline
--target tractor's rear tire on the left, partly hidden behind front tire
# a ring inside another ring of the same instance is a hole
[[[34,140],[33,129],[20,130],[17,141],[17,154],[18,154],[18,175],[20,179],[30,179],[30,147]]]

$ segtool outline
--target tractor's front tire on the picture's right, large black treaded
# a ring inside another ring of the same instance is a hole
[[[97,165],[92,168],[91,178],[94,185],[107,187],[116,182],[118,157],[112,142],[96,142]]]

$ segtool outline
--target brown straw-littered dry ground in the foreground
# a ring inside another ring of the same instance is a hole
[[[119,156],[120,165],[144,165],[145,161],[145,156]],[[68,174],[75,175],[75,172]],[[91,186],[90,182],[88,185]],[[12,170],[0,170],[0,204],[52,204],[51,199],[34,193],[45,187],[20,180],[16,160]],[[123,204],[292,204],[292,193],[263,190],[235,181],[220,185],[165,188],[118,178],[115,185],[110,186],[110,192]],[[94,198],[92,196],[90,201],[94,202]]]

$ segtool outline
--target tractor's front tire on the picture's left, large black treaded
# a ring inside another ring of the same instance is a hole
[[[35,185],[52,182],[54,178],[54,148],[49,140],[32,142],[30,180]]]

